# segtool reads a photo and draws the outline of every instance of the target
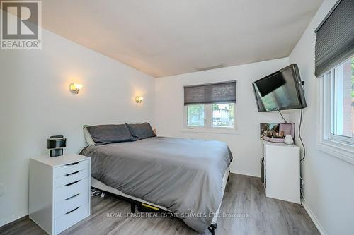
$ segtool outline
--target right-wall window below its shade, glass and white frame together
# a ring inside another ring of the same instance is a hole
[[[354,56],[319,79],[317,148],[354,164]]]

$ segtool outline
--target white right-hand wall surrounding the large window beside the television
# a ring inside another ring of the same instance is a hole
[[[299,66],[305,81],[307,108],[304,109],[302,136],[307,157],[302,163],[304,197],[309,210],[319,222],[324,234],[354,234],[354,165],[316,150],[317,83],[314,76],[314,29],[329,12],[336,0],[325,0],[316,16],[290,54],[290,63]],[[299,112],[290,114],[299,120]],[[296,139],[296,143],[299,140]]]

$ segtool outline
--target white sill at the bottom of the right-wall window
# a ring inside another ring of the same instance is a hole
[[[317,143],[316,148],[317,150],[326,152],[333,157],[354,164],[354,147],[351,145],[335,140],[322,140]]]

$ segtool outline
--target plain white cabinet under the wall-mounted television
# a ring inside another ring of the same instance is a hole
[[[300,201],[300,149],[263,140],[264,188],[269,198]]]

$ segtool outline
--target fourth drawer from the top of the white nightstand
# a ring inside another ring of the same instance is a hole
[[[89,199],[89,191],[84,191],[55,203],[55,218],[74,210],[76,207],[89,203]]]

